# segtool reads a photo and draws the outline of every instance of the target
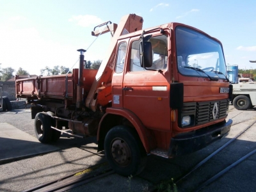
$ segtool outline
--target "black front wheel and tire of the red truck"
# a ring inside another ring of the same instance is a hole
[[[131,127],[118,125],[110,129],[104,141],[104,149],[109,165],[120,175],[138,175],[147,164],[145,148]]]

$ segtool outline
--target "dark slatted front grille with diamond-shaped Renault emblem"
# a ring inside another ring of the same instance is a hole
[[[184,103],[180,113],[180,118],[186,115],[194,116],[194,125],[206,124],[220,118],[225,118],[227,116],[226,112],[228,110],[228,103],[229,99]],[[212,113],[212,111],[214,113]],[[191,127],[191,125],[189,127]]]

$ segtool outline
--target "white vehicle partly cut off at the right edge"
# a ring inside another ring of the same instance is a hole
[[[232,104],[237,110],[247,110],[256,105],[256,84],[233,84]]]

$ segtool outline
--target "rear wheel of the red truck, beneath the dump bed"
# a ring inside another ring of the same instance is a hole
[[[40,112],[35,116],[35,133],[36,138],[41,143],[50,143],[52,140],[51,116],[47,113]]]

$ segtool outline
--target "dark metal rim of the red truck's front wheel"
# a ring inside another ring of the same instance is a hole
[[[131,150],[124,140],[117,138],[111,143],[111,154],[116,164],[127,166],[131,163]]]

